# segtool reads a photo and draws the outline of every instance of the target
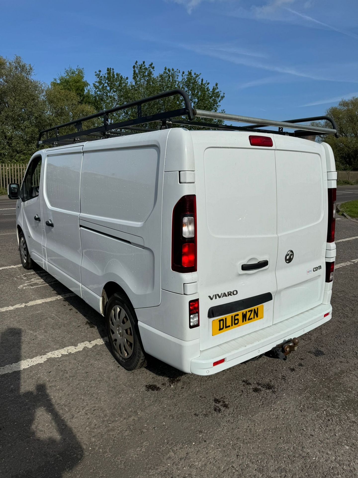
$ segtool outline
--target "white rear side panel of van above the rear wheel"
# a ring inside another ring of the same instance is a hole
[[[160,304],[161,227],[168,131],[84,145],[82,284],[101,296],[116,282],[135,308]]]

